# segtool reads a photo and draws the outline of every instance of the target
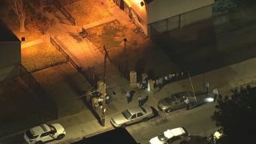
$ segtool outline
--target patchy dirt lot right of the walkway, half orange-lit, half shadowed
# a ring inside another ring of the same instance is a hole
[[[158,51],[150,38],[146,38],[145,34],[138,31],[132,22],[130,26],[123,26],[118,20],[114,20],[90,28],[87,32],[90,34],[91,42],[100,51],[102,51],[102,46],[106,46],[115,66],[120,66],[122,70],[127,71],[136,70],[138,77],[148,71],[154,73],[151,75],[153,77],[178,71],[176,66],[161,51]],[[123,38],[127,39],[126,54],[124,54]],[[126,60],[127,63],[124,62]],[[128,75],[126,76],[128,78]]]

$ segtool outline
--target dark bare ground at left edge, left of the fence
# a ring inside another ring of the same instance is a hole
[[[44,105],[50,107],[50,103],[46,102]],[[21,78],[0,84],[0,137],[47,122],[54,117],[47,114],[48,119],[43,120],[41,112],[42,105],[38,101],[38,95]]]

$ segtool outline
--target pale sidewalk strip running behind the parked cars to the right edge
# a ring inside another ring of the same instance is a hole
[[[199,74],[197,76],[192,77],[192,82],[194,84],[195,90],[202,90],[202,77],[204,77],[207,82],[210,82],[210,90],[212,90],[215,86],[218,86],[218,90],[220,94],[230,94],[230,89],[236,86],[246,85],[247,83],[254,84],[256,81],[256,58],[252,58],[245,62],[240,62],[238,64],[234,64],[232,66],[226,66],[219,70],[210,71],[206,74]],[[124,85],[127,82],[123,83]],[[70,138],[82,138],[82,137],[90,137],[95,134],[102,133],[106,130],[112,130],[113,127],[110,125],[110,118],[113,114],[118,114],[122,110],[126,109],[127,107],[137,106],[137,98],[138,94],[150,95],[148,102],[146,105],[154,106],[156,108],[157,101],[161,98],[165,98],[167,95],[183,91],[183,90],[191,90],[189,79],[184,79],[182,81],[173,82],[167,84],[154,94],[154,92],[142,91],[142,90],[135,90],[135,97],[133,102],[130,104],[126,103],[126,98],[124,95],[117,93],[114,96],[113,102],[107,106],[106,112],[106,126],[102,127],[99,125],[97,120],[93,118],[90,112],[82,112],[80,114],[76,114],[67,118],[59,119],[56,122],[61,122],[62,124],[69,123],[71,127],[69,128],[69,133],[73,136]],[[109,113],[109,111],[113,111],[114,113]],[[89,121],[85,122],[83,118],[92,117]],[[203,134],[210,134],[213,130],[206,130],[204,132],[198,132],[199,135]],[[66,140],[66,142],[70,142],[70,140]],[[60,142],[62,143],[62,142]]]

